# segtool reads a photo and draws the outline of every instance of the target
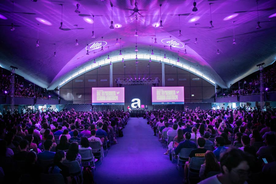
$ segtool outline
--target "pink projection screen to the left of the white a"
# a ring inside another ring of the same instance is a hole
[[[125,105],[125,88],[92,87],[92,105]]]

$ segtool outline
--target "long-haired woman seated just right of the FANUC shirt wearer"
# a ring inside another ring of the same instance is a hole
[[[199,178],[205,179],[210,171],[220,172],[220,164],[218,163],[213,151],[206,151],[204,164],[201,165]]]

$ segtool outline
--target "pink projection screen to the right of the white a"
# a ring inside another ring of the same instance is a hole
[[[151,87],[152,105],[184,104],[184,87]]]

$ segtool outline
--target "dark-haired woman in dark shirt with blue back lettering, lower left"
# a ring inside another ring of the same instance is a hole
[[[69,168],[64,165],[62,162],[66,159],[64,151],[57,151],[54,157],[53,166],[50,167],[49,173],[50,174],[62,174],[64,180],[67,184],[71,184],[71,177],[69,174]]]

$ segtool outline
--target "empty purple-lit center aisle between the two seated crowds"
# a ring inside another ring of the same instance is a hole
[[[97,184],[182,183],[183,178],[143,118],[132,117],[119,144],[111,146],[102,164],[96,163]],[[183,170],[181,170],[183,172]]]

